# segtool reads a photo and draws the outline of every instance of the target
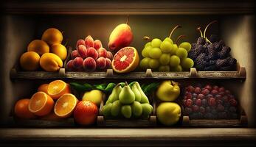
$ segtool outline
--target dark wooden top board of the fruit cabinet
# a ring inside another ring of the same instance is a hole
[[[250,14],[254,1],[7,1],[7,14],[198,15]]]

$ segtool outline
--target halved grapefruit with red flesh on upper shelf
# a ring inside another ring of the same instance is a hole
[[[139,65],[139,54],[134,47],[124,47],[117,51],[112,60],[112,68],[117,73],[134,71]]]

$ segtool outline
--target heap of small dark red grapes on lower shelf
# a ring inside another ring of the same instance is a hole
[[[183,107],[190,119],[238,118],[238,101],[229,90],[217,85],[187,86]]]

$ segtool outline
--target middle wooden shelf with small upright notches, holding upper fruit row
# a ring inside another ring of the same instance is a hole
[[[69,72],[60,68],[59,72],[46,71],[10,71],[11,79],[246,79],[246,69],[238,64],[238,71],[196,71],[190,72],[131,72],[125,74],[114,73],[112,69],[106,72]]]

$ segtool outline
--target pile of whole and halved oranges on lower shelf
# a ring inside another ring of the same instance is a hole
[[[69,118],[74,114],[77,123],[90,125],[97,118],[98,108],[91,101],[78,101],[71,93],[69,84],[62,80],[55,80],[49,84],[40,85],[38,92],[31,98],[18,100],[14,112],[18,118],[41,118],[50,121]]]

